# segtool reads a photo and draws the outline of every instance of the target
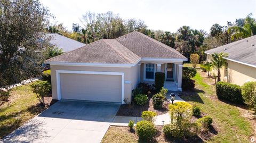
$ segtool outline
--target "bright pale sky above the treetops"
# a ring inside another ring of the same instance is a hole
[[[68,30],[72,23],[82,26],[80,19],[87,11],[112,11],[122,19],[140,19],[149,29],[176,32],[182,26],[210,31],[214,23],[221,26],[253,13],[256,0],[41,0],[55,16],[51,23],[63,23]]]

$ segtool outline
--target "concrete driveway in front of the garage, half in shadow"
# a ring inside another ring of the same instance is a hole
[[[61,100],[2,142],[100,142],[119,105]]]

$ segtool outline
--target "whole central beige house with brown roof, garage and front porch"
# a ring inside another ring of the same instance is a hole
[[[46,60],[51,65],[53,99],[124,104],[139,82],[154,83],[165,73],[164,87],[181,90],[182,63],[187,58],[143,33],[101,39]]]

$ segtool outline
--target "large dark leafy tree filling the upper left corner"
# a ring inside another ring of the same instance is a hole
[[[49,11],[34,0],[0,2],[0,86],[40,72]]]

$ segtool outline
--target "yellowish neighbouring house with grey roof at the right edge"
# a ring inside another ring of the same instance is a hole
[[[221,81],[242,86],[245,82],[256,81],[256,36],[245,38],[206,51],[207,60],[213,53],[227,53],[225,66],[221,69]],[[213,71],[217,75],[216,71]]]

